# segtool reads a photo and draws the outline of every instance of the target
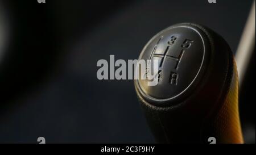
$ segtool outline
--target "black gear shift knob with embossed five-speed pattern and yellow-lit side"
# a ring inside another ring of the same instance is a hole
[[[208,143],[209,137],[243,143],[236,63],[221,36],[198,24],[175,24],[152,37],[139,56],[154,59],[158,84],[134,82],[159,143]]]

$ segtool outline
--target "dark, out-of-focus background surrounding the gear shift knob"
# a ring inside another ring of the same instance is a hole
[[[99,81],[97,61],[138,58],[181,22],[211,28],[235,54],[252,3],[1,0],[0,143],[155,143],[133,81]],[[246,143],[255,143],[251,62],[240,93]]]

